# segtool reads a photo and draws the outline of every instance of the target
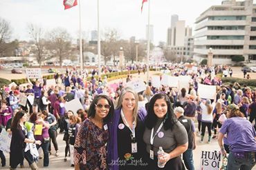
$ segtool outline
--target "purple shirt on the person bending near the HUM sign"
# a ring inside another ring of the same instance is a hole
[[[227,134],[230,151],[256,151],[256,132],[253,125],[241,117],[228,118],[224,121],[221,134]]]

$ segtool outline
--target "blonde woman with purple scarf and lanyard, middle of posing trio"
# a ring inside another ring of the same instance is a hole
[[[138,119],[138,95],[126,87],[122,89],[117,109],[109,123],[109,169],[147,169],[147,164],[143,164],[146,154],[144,130],[144,123]],[[135,160],[138,164],[133,163]]]

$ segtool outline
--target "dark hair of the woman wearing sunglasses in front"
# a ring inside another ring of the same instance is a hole
[[[114,111],[114,108],[113,108],[113,102],[112,100],[109,98],[109,96],[107,95],[104,95],[104,94],[100,94],[98,96],[95,96],[95,98],[93,99],[93,101],[91,102],[91,105],[90,105],[90,109],[88,111],[88,117],[89,118],[94,118],[95,117],[95,114],[96,114],[96,110],[95,110],[95,105],[97,105],[98,103],[98,100],[100,99],[106,99],[110,105],[110,108],[109,108],[109,114],[107,114],[107,116],[103,119],[103,122],[104,123],[107,123],[110,121],[111,119],[111,116],[113,115],[113,111]]]

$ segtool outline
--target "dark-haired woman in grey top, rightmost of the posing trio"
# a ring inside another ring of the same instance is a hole
[[[163,169],[184,169],[181,154],[188,149],[188,134],[176,119],[166,94],[155,94],[151,98],[145,125],[143,139],[149,153],[149,167],[159,169],[159,161],[165,164]],[[163,147],[164,153],[158,157],[159,147]]]

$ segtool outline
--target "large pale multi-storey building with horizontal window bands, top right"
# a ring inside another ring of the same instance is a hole
[[[253,0],[222,1],[196,19],[194,60],[207,59],[212,49],[212,64],[234,64],[244,56],[256,60],[256,6]]]

